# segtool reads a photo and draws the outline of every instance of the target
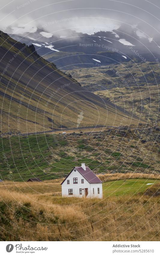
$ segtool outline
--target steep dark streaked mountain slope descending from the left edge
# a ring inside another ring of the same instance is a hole
[[[41,58],[33,45],[0,35],[2,132],[47,131],[57,127],[119,125],[138,118],[85,91],[71,76]],[[82,113],[81,120],[78,116]]]

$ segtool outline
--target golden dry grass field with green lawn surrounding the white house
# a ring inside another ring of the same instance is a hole
[[[159,180],[104,182],[103,200],[53,196],[60,182],[0,183],[0,239],[159,241]]]

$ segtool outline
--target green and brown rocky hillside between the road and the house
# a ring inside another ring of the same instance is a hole
[[[125,125],[125,121],[124,121]],[[65,177],[86,163],[95,173],[159,172],[159,128],[121,127],[92,134],[38,134],[2,137],[2,179],[26,181]],[[9,164],[9,167],[8,165]]]

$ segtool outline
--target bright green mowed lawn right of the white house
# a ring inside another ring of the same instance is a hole
[[[160,183],[159,179],[127,179],[108,181],[103,183],[103,196],[121,196],[125,194],[137,194],[145,191],[151,185],[148,183]]]

